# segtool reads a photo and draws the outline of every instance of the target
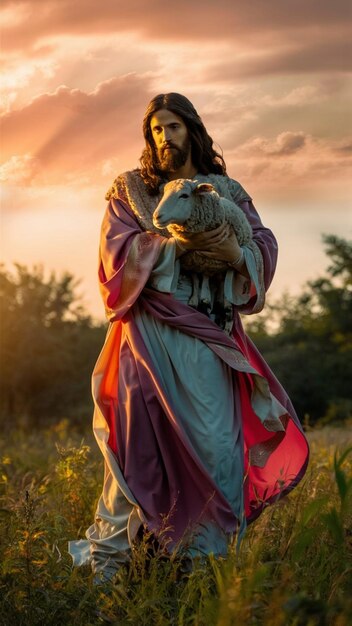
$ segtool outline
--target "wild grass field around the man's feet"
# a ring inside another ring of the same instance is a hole
[[[61,422],[0,444],[0,624],[349,626],[352,428],[308,433],[302,483],[252,524],[240,553],[182,573],[141,543],[113,584],[72,569],[67,541],[92,523],[102,458]]]

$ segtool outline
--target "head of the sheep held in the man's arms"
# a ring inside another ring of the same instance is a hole
[[[164,187],[164,194],[153,214],[156,228],[166,228],[169,224],[184,224],[190,217],[194,198],[203,193],[217,193],[209,183],[199,183],[188,178],[170,180]]]

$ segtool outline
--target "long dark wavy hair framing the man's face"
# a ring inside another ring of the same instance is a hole
[[[182,118],[187,126],[191,141],[192,163],[200,174],[226,175],[223,157],[214,150],[213,140],[195,110],[193,104],[179,93],[162,93],[150,102],[143,119],[143,134],[146,147],[140,158],[141,176],[150,195],[156,195],[164,177],[158,169],[157,151],[154,144],[150,120],[154,113],[167,109]]]

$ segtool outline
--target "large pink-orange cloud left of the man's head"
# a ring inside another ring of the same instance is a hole
[[[90,93],[62,86],[3,115],[4,173],[17,179],[26,159],[27,165],[36,163],[36,184],[64,183],[106,175],[112,158],[121,166],[137,165],[149,90],[150,77],[136,75],[106,81]]]

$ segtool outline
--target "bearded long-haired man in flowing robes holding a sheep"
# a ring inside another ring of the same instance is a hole
[[[116,179],[102,226],[99,279],[111,324],[93,395],[105,480],[88,541],[70,545],[76,564],[90,560],[104,576],[129,559],[141,529],[166,552],[226,554],[266,504],[297,484],[308,460],[291,402],[238,313],[263,306],[275,238],[226,175],[187,98],[154,98],[143,130],[141,169]],[[189,236],[182,249],[157,231],[153,211],[163,185],[177,178],[211,182],[236,202],[252,226],[251,245],[241,248],[224,226]],[[231,336],[188,305],[189,250],[228,263]]]

